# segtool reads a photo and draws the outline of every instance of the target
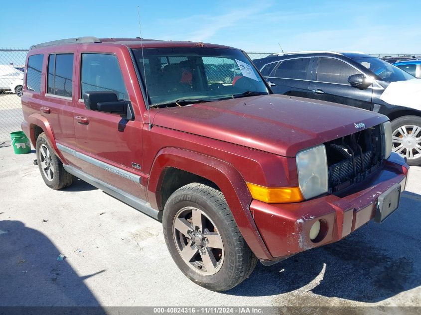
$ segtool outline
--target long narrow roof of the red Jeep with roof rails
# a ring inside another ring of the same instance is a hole
[[[97,38],[94,36],[75,37],[67,39],[59,39],[50,42],[36,44],[30,47],[32,49],[40,49],[45,47],[63,46],[63,45],[78,45],[78,44],[120,44],[130,48],[147,47],[214,47],[214,48],[232,48],[229,46],[215,45],[202,42],[191,41],[171,41],[171,40],[157,40],[146,38]]]

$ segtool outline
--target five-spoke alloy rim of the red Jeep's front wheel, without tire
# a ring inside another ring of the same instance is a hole
[[[194,207],[177,212],[173,221],[177,250],[184,262],[204,275],[216,274],[224,261],[224,245],[212,220]]]

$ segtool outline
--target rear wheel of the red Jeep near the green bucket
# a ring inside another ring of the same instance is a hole
[[[36,139],[36,160],[39,172],[45,185],[58,190],[70,186],[74,176],[63,168],[63,163],[55,155],[53,149],[48,144],[45,133],[41,133]]]

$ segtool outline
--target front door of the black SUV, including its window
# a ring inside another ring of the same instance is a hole
[[[334,58],[318,57],[310,83],[309,98],[372,110],[373,85],[367,89],[352,87],[348,78],[361,72]]]

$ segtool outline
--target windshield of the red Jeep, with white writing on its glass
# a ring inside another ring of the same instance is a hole
[[[240,51],[175,47],[133,50],[149,105],[186,105],[268,94],[259,73]]]

